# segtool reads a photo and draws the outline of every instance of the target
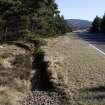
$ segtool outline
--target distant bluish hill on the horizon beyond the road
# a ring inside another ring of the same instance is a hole
[[[81,19],[67,19],[66,21],[73,31],[79,29],[88,29],[92,23],[91,21]]]

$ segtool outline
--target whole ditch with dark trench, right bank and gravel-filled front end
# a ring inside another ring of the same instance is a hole
[[[36,49],[33,53],[31,93],[25,97],[25,105],[70,105],[71,97],[58,78],[52,76],[53,70],[49,70],[51,62],[45,61],[45,52],[40,44]]]

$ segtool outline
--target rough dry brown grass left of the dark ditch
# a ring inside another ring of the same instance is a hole
[[[0,48],[0,105],[20,105],[31,89],[31,59],[25,49],[15,45]]]

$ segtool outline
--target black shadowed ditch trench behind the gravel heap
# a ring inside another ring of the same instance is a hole
[[[47,71],[48,63],[44,61],[44,52],[38,51],[34,54],[32,67],[35,70],[35,74],[31,79],[32,91],[48,91],[54,89],[53,83],[50,82],[50,74]]]

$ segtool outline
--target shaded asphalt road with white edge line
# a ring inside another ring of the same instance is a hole
[[[93,46],[105,53],[105,35],[92,34],[89,32],[76,32],[76,34],[82,40],[88,41],[89,44],[92,44]]]

